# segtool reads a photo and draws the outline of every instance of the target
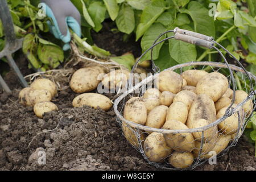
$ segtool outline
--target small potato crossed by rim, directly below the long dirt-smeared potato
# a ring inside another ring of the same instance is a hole
[[[199,127],[208,126],[210,123],[205,119],[198,119],[192,122],[192,129],[196,129]],[[211,139],[212,137],[218,134],[218,128],[216,126],[210,127],[207,130],[204,130],[204,141]],[[201,141],[203,137],[203,132],[195,132],[193,136],[196,140]]]

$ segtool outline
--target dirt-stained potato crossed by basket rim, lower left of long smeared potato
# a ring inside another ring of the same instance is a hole
[[[167,130],[188,130],[188,127],[176,120],[166,121],[163,129]],[[169,147],[175,151],[192,151],[195,148],[195,139],[191,133],[163,134]]]

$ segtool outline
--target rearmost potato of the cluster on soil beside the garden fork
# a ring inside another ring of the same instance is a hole
[[[30,87],[34,90],[48,90],[51,93],[52,97],[54,97],[57,93],[55,83],[47,78],[38,78],[37,80],[32,82]]]

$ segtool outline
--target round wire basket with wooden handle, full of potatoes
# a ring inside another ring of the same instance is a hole
[[[167,34],[168,32],[174,32],[175,35],[157,42],[161,36]],[[208,68],[210,71],[225,73],[225,75],[228,75],[229,86],[233,89],[233,96],[230,97],[232,104],[227,107],[225,114],[218,118],[216,121],[210,123],[207,126],[192,129],[156,129],[153,127],[139,125],[133,121],[128,121],[123,117],[123,110],[127,100],[129,100],[131,97],[143,96],[143,90],[145,86],[151,88],[151,83],[154,82],[154,80],[159,76],[159,68],[156,67],[154,61],[152,60],[152,49],[156,45],[173,38],[176,40],[182,40],[187,43],[195,44],[197,46],[203,46],[210,49],[214,48],[216,51],[218,51],[218,53],[220,53],[225,63],[191,62],[175,65],[174,67],[168,68],[165,71],[182,73],[183,70],[187,69]],[[158,39],[156,39],[152,47],[147,49],[147,51],[142,54],[131,71],[131,73],[133,73],[141,58],[148,51],[151,51],[152,70],[155,72],[155,74],[147,77],[135,86],[130,88],[128,87],[129,89],[115,100],[114,111],[117,115],[117,121],[122,127],[122,133],[128,142],[130,142],[130,144],[132,144],[136,150],[141,152],[144,159],[146,159],[149,164],[155,166],[156,168],[171,170],[194,169],[207,161],[209,161],[211,164],[216,164],[215,162],[217,157],[225,155],[230,147],[236,146],[238,139],[243,133],[243,130],[245,130],[247,122],[253,115],[253,111],[255,110],[256,105],[256,90],[253,89],[256,82],[256,77],[252,73],[247,72],[243,65],[236,59],[236,57],[234,57],[232,53],[230,53],[220,44],[215,42],[212,37],[175,28],[174,30],[164,32],[158,37]],[[217,47],[214,46],[214,44],[217,44],[217,46],[220,46],[222,49],[224,49],[224,51],[228,52],[228,54],[237,61],[241,68],[237,67],[236,65],[228,64],[225,56]],[[242,84],[240,82],[238,83],[234,78],[235,74],[236,76],[240,77]],[[241,87],[244,91],[246,91],[248,96],[242,102],[234,104],[236,98],[236,90],[238,90],[238,88],[241,89]],[[135,92],[136,90],[137,92]],[[248,103],[249,108],[245,110],[245,105],[248,106]],[[238,122],[238,129],[236,131],[232,131],[232,133],[226,133],[223,129],[218,129],[218,125],[220,125],[220,123],[225,123],[224,121],[232,118],[232,122],[235,122],[235,120]],[[212,136],[214,137],[206,138],[208,133],[212,133]],[[196,138],[195,134],[200,134],[197,135],[200,137]],[[152,150],[151,146],[145,144],[149,141],[154,143],[154,150]],[[189,151],[184,149],[187,146],[192,146],[190,147]]]

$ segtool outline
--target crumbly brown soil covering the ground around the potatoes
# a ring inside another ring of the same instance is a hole
[[[103,38],[98,37],[107,42],[112,36],[113,32],[108,30]],[[118,40],[109,45],[116,55],[138,51],[136,45],[121,43],[120,34],[116,36]],[[0,170],[158,170],[123,137],[113,108],[109,111],[88,106],[73,108],[72,100],[77,94],[68,88],[52,101],[59,110],[39,119],[32,107],[19,104],[20,86],[13,73],[8,75],[6,81],[13,93],[8,95],[0,90]],[[38,163],[39,151],[46,152],[46,165]],[[195,170],[255,171],[255,146],[242,136],[236,147],[217,159],[217,165],[205,163]]]

